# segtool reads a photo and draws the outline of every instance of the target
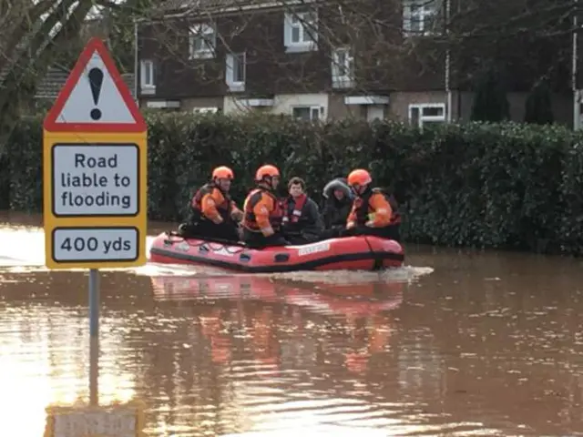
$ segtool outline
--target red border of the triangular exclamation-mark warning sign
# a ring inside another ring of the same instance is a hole
[[[66,101],[71,96],[73,89],[95,52],[101,56],[109,75],[111,75],[113,82],[118,87],[119,95],[127,105],[129,113],[136,120],[135,123],[63,123],[56,121],[56,117],[59,116],[65,107]],[[134,77],[134,80],[138,80],[138,77]],[[139,107],[133,97],[131,97],[128,86],[123,81],[115,62],[107,51],[107,47],[100,38],[91,38],[87,46],[83,49],[83,52],[81,52],[81,55],[77,59],[77,64],[71,70],[65,85],[61,88],[58,97],[56,97],[55,104],[46,114],[43,127],[49,132],[138,133],[148,130],[146,120],[144,120],[144,117],[139,112]]]

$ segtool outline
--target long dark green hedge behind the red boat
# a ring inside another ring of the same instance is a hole
[[[2,207],[41,209],[40,122],[24,120],[0,159]],[[181,219],[193,189],[218,165],[235,171],[240,203],[266,162],[285,178],[305,178],[318,198],[330,178],[364,167],[375,184],[394,189],[407,241],[583,252],[583,136],[563,127],[472,123],[420,131],[393,122],[179,114],[148,114],[148,124],[150,219]]]

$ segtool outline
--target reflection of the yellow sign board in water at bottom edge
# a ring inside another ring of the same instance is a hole
[[[48,407],[45,437],[142,437],[144,404]]]

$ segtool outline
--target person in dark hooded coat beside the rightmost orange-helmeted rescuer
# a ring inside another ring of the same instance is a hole
[[[325,228],[322,238],[339,237],[353,208],[353,192],[346,178],[335,178],[328,182],[322,190],[322,197],[324,198],[322,218]]]

